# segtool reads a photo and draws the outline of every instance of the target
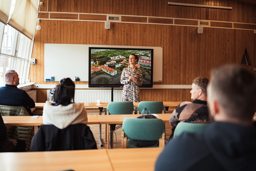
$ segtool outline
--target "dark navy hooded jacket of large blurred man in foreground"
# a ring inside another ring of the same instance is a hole
[[[255,171],[256,128],[226,122],[169,141],[155,170]]]

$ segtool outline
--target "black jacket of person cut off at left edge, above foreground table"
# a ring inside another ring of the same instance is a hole
[[[3,118],[0,115],[0,152],[13,152],[14,146],[7,140],[7,131]]]

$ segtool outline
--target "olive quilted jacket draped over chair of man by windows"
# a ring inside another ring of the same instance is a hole
[[[0,105],[0,114],[2,116],[29,116],[24,106]],[[8,137],[25,141],[26,151],[30,150],[31,140],[35,132],[34,126],[6,126],[6,129]]]

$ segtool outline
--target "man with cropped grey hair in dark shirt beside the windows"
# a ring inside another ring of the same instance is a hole
[[[0,105],[24,106],[29,115],[33,116],[30,108],[35,107],[34,100],[26,91],[18,89],[19,76],[14,70],[8,70],[4,74],[5,86],[0,87]]]

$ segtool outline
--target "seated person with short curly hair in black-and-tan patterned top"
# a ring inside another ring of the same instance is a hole
[[[170,117],[170,124],[173,127],[170,138],[173,137],[174,130],[179,122],[209,123],[209,113],[206,105],[207,78],[197,77],[192,83],[191,101],[182,102],[173,111]],[[169,139],[170,139],[169,138]]]

